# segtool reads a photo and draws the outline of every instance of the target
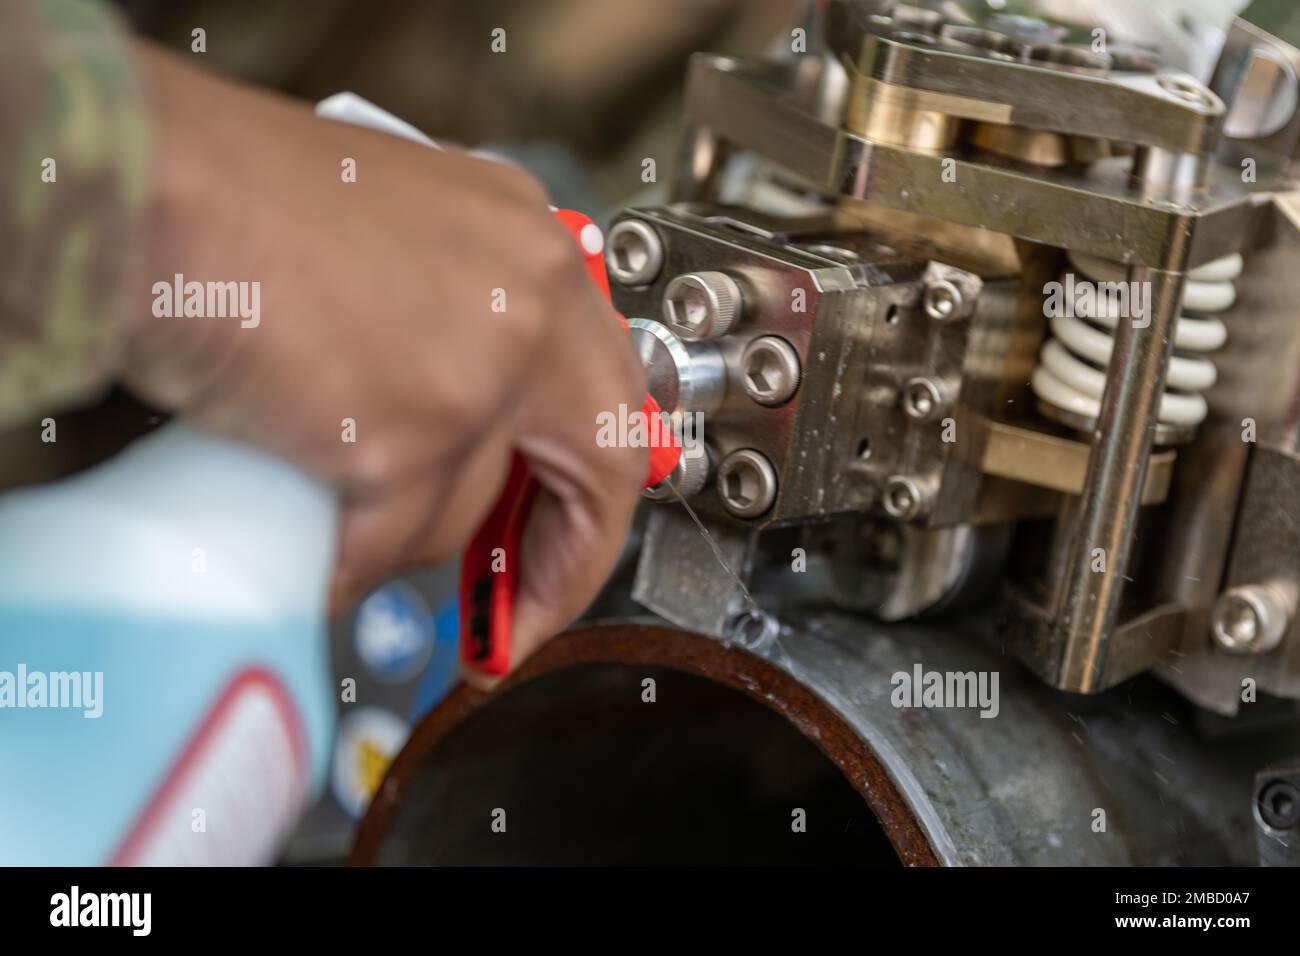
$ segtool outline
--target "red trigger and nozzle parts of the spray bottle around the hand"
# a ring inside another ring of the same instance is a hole
[[[555,219],[564,225],[582,250],[586,271],[597,289],[610,298],[610,280],[604,273],[604,237],[590,219],[571,209],[556,209]],[[619,316],[623,328],[628,324]],[[641,406],[646,420],[659,415],[659,405],[646,395]],[[667,441],[650,449],[650,473],[645,486],[659,484],[677,467],[681,447],[668,429],[654,429]],[[593,436],[594,441],[594,436]],[[460,563],[460,661],[481,674],[498,676],[510,671],[511,627],[515,617],[515,593],[519,587],[520,541],[528,514],[537,498],[538,484],[528,472],[523,455],[515,453],[506,488],[486,520],[471,538]]]

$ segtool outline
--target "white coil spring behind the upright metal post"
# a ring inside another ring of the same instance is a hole
[[[1095,282],[1127,282],[1121,263],[1096,256],[1070,254],[1071,267]],[[1209,406],[1200,394],[1218,377],[1218,369],[1205,355],[1227,341],[1227,328],[1214,312],[1231,308],[1236,302],[1232,280],[1242,274],[1242,256],[1230,255],[1200,265],[1187,273],[1182,307],[1191,315],[1179,315],[1174,326],[1174,355],[1169,360],[1165,394],[1160,401],[1158,419],[1169,425],[1193,427],[1205,418]],[[1069,315],[1069,310],[1052,316],[1052,337],[1043,346],[1039,365],[1030,384],[1044,402],[1082,418],[1096,419],[1101,411],[1101,394],[1106,388],[1106,367],[1119,324],[1114,297],[1096,295],[1097,303],[1088,315]]]

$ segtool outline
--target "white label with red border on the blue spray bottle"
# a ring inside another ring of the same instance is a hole
[[[117,866],[272,862],[309,792],[307,739],[280,679],[226,684],[113,855]]]

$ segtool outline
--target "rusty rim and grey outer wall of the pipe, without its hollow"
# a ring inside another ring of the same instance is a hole
[[[350,862],[380,861],[416,771],[467,718],[514,688],[590,663],[666,667],[776,711],[838,769],[909,866],[1254,862],[1253,771],[1300,753],[1300,731],[1266,735],[1262,749],[1261,740],[1206,741],[1192,732],[1190,705],[1157,682],[1062,695],[972,627],[818,614],[759,653],[658,623],[578,627],[494,692],[460,685],[420,721]],[[997,717],[894,706],[892,675],[916,666],[997,672]]]

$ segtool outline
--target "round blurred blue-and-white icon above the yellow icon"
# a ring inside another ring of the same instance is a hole
[[[380,680],[400,683],[416,676],[429,662],[433,639],[429,605],[403,581],[385,584],[356,611],[356,656]]]

